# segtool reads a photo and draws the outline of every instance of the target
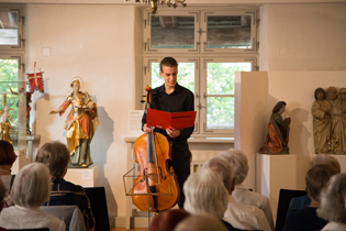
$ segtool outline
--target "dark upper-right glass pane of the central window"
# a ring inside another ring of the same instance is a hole
[[[208,48],[250,48],[250,15],[208,16]]]

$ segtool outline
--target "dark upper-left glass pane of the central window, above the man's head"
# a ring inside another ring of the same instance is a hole
[[[152,48],[193,48],[194,16],[152,16]]]

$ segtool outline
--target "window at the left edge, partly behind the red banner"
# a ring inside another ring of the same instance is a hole
[[[22,4],[0,7],[0,94],[1,103],[7,102],[11,108],[10,114],[14,122],[25,124],[26,97],[21,97],[26,89],[24,81],[24,7]],[[14,91],[12,94],[10,88]],[[24,91],[23,91],[24,90]],[[19,94],[20,92],[20,94]],[[23,100],[22,100],[23,99]],[[0,110],[3,106],[0,107]],[[22,121],[20,118],[23,118]],[[23,127],[25,128],[25,127]],[[15,130],[15,128],[12,128]],[[24,130],[25,131],[25,130]]]

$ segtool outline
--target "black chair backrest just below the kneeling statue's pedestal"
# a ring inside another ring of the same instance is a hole
[[[276,221],[276,231],[282,231],[287,210],[292,198],[302,197],[306,195],[304,190],[291,190],[291,189],[280,189],[278,210],[277,210],[277,221]]]

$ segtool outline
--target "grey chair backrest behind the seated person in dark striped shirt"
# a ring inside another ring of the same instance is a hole
[[[86,223],[78,206],[42,206],[42,211],[57,217],[66,224],[66,231],[86,231]]]

